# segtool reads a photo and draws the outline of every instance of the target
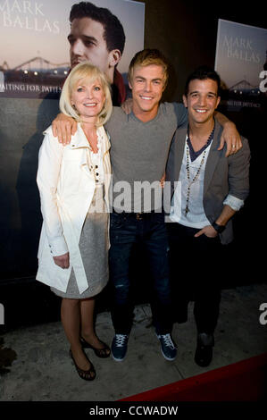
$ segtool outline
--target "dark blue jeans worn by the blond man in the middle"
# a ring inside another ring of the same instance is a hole
[[[168,239],[163,213],[111,214],[110,274],[113,283],[112,319],[116,333],[129,334],[134,304],[130,295],[129,259],[141,242],[150,268],[151,309],[156,332],[171,332]],[[139,267],[141,269],[141,267]],[[138,290],[142,294],[143,290]]]

